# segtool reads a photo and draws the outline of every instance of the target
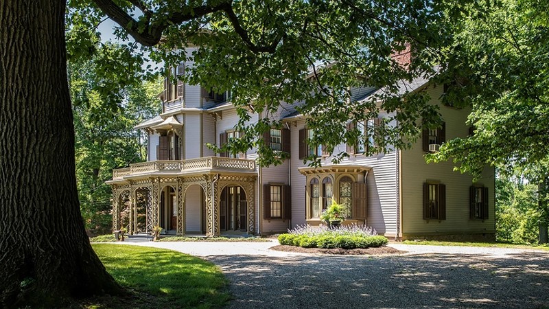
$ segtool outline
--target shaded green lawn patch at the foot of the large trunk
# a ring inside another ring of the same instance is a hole
[[[127,297],[100,297],[86,308],[220,308],[230,299],[220,268],[191,255],[121,244],[93,244]]]

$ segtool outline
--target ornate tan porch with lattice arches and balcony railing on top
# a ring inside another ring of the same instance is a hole
[[[255,161],[203,157],[113,170],[113,231],[220,236],[256,234]],[[229,200],[230,199],[230,200]]]

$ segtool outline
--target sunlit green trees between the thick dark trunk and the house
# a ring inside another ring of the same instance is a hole
[[[73,102],[75,125],[76,180],[80,209],[86,231],[95,235],[110,233],[111,189],[105,181],[112,178],[113,168],[126,167],[146,159],[146,136],[133,127],[158,115],[161,80],[135,79],[130,85],[119,82],[119,74],[103,71],[108,67],[108,55],[124,49],[110,43],[97,43],[91,59],[69,62],[69,87]],[[115,60],[118,67],[124,58]],[[111,60],[111,61],[113,61]],[[129,67],[121,65],[122,67]],[[102,95],[105,85],[117,85]],[[111,95],[116,91],[117,95]],[[117,100],[117,102],[105,102]],[[112,108],[111,106],[118,106]]]

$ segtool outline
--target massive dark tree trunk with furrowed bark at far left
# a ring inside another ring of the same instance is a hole
[[[0,308],[120,293],[76,191],[65,1],[0,1]]]

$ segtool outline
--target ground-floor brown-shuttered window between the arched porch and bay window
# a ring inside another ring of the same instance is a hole
[[[290,185],[263,185],[264,219],[292,218],[292,191]]]

